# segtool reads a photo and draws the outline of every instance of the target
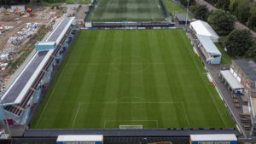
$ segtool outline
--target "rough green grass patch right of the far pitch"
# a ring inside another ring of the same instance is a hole
[[[171,0],[164,0],[166,4],[166,9],[174,16],[175,14],[187,14],[187,10],[183,9],[178,3],[174,3]],[[192,19],[193,15],[189,14],[189,18]]]

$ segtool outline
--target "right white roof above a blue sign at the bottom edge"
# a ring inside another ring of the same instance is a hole
[[[234,134],[190,135],[191,141],[237,141]]]

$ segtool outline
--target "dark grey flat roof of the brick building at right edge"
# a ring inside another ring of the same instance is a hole
[[[256,81],[256,62],[253,60],[234,60],[248,78]]]

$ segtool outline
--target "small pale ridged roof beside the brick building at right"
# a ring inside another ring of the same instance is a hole
[[[243,86],[236,80],[230,70],[220,71],[220,74],[224,77],[226,82],[230,84],[231,89],[242,89]]]

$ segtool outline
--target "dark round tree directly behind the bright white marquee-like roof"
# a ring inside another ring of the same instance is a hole
[[[206,21],[209,11],[207,5],[198,5],[193,13],[195,14],[195,19]]]

